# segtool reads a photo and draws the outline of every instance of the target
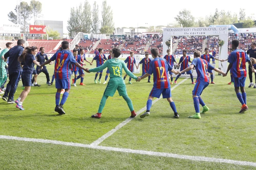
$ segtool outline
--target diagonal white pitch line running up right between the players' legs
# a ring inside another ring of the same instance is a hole
[[[178,87],[180,84],[182,84],[184,81],[186,81],[188,78],[182,80],[181,82],[179,82],[178,84],[176,84],[175,86],[173,86],[173,88],[171,88],[171,91],[173,89],[175,89],[176,87]],[[162,95],[160,96],[159,99],[162,99]],[[152,105],[157,102],[159,100],[158,98],[155,99],[152,102]],[[144,112],[147,109],[147,106],[145,106],[144,108],[142,108],[141,110],[139,110],[138,112],[136,112],[137,116],[140,115],[142,112]],[[95,145],[99,145],[103,140],[105,140],[106,138],[108,138],[109,136],[111,136],[113,133],[115,133],[118,129],[120,129],[121,127],[123,127],[124,125],[126,125],[127,123],[129,123],[133,118],[129,117],[127,118],[125,121],[123,121],[122,123],[120,123],[119,125],[117,125],[116,127],[114,127],[112,130],[110,130],[108,133],[104,134],[103,136],[101,136],[99,139],[95,140],[94,142],[91,143],[92,146]]]

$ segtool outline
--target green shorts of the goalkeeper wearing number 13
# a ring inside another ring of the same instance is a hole
[[[127,95],[123,77],[110,77],[108,85],[104,91],[104,95],[113,97],[116,90],[118,91],[119,96]]]

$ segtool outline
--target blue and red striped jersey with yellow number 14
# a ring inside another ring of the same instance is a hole
[[[56,79],[69,79],[69,64],[76,63],[73,54],[68,50],[62,50],[55,53],[51,60],[55,60],[54,74]]]

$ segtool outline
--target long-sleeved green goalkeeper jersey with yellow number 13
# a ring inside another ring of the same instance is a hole
[[[130,70],[128,70],[125,62],[118,58],[112,58],[110,60],[107,60],[100,67],[90,69],[89,71],[90,72],[98,72],[98,71],[104,70],[107,67],[109,69],[110,77],[122,77],[122,73],[123,73],[123,69],[124,69],[124,71],[126,72],[126,74],[129,75],[129,77],[137,80],[137,77],[135,75],[133,75]]]

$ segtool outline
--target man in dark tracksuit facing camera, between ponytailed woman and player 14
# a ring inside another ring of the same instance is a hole
[[[40,65],[42,63],[45,62],[45,60],[47,61],[48,60],[48,57],[47,55],[45,54],[45,48],[44,47],[40,47],[40,53],[38,53],[36,55],[36,58],[37,58],[37,61],[40,63]],[[36,67],[36,73],[37,75],[39,75],[41,72],[45,73],[46,75],[46,84],[50,84],[50,76],[49,76],[49,73],[46,69],[46,66],[43,66],[42,70],[39,68],[39,67]],[[34,77],[33,77],[33,80],[32,80],[32,83],[34,82]]]

